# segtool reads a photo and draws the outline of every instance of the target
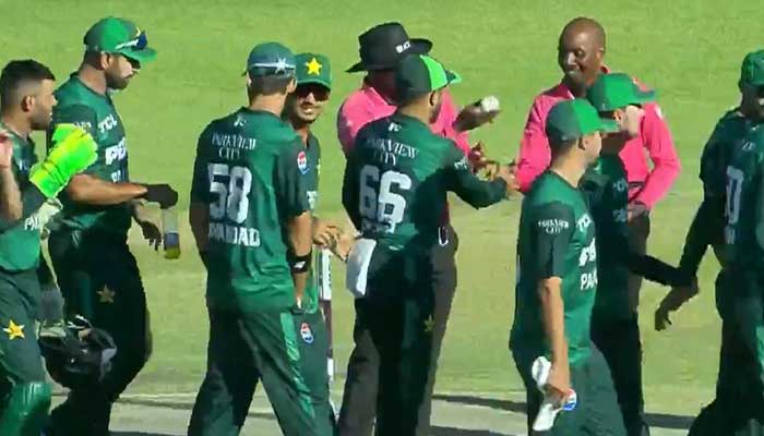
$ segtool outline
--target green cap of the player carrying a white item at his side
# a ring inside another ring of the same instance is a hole
[[[547,116],[547,137],[559,144],[575,141],[595,132],[618,132],[618,123],[599,118],[599,113],[585,98],[562,100]]]

